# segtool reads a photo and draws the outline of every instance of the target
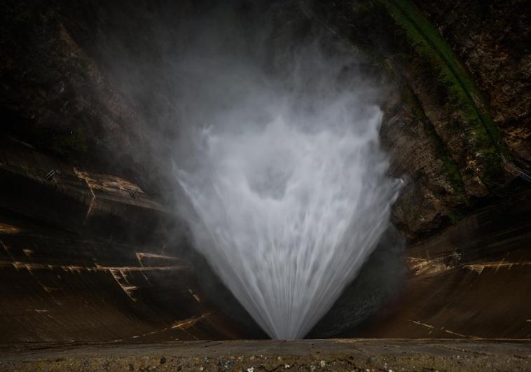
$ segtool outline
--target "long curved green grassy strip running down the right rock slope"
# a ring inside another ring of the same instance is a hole
[[[469,145],[474,146],[481,154],[486,167],[485,175],[488,178],[496,177],[502,170],[499,154],[510,158],[509,152],[502,146],[499,132],[481,99],[481,92],[458,62],[452,48],[411,1],[378,1],[404,30],[408,43],[415,52],[432,65],[437,80],[446,88],[452,104],[469,126],[465,133]],[[450,174],[452,173],[457,177],[457,174],[450,170]]]

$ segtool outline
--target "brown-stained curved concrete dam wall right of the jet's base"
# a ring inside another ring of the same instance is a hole
[[[531,338],[531,193],[408,247],[404,289],[356,336]]]

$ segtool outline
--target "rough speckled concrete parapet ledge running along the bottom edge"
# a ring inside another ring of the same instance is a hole
[[[528,371],[524,340],[237,340],[142,345],[20,345],[18,371]]]

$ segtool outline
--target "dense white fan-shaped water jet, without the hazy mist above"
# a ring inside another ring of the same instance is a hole
[[[397,182],[379,149],[382,114],[360,116],[203,130],[202,162],[179,171],[196,244],[272,338],[305,336],[388,227]]]

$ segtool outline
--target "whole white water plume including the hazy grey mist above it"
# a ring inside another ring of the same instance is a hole
[[[181,213],[263,330],[303,338],[389,227],[399,181],[380,146],[381,90],[342,43],[266,48],[262,27],[241,40],[232,18],[216,32],[208,20],[172,69]]]

